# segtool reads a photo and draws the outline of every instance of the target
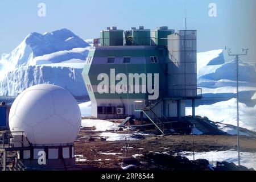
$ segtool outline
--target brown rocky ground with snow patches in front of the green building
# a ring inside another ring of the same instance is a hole
[[[167,169],[210,170],[207,160],[189,161],[181,151],[193,151],[192,135],[160,136],[154,133],[139,136],[138,140],[106,141],[101,132],[84,128],[75,143],[77,168],[83,170]],[[118,131],[127,133],[127,131]],[[134,136],[136,137],[136,136]],[[237,149],[237,137],[229,135],[195,135],[195,152],[226,151]],[[256,138],[241,137],[242,152],[256,152]],[[217,163],[214,170],[245,170],[233,163]]]

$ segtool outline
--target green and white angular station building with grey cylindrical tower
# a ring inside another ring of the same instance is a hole
[[[147,118],[165,133],[185,116],[185,100],[201,98],[197,88],[196,30],[107,28],[94,39],[82,72],[92,116]]]

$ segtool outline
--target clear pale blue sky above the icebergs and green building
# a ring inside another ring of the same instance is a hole
[[[46,4],[43,18],[38,16],[40,2]],[[217,5],[217,17],[208,15],[212,2]],[[0,7],[0,55],[11,52],[30,32],[68,28],[82,39],[91,39],[110,26],[124,30],[138,26],[185,27],[183,0],[1,0]],[[241,52],[245,47],[250,51],[244,60],[254,61],[255,9],[255,0],[187,0],[187,27],[198,31],[198,51],[228,46]]]

